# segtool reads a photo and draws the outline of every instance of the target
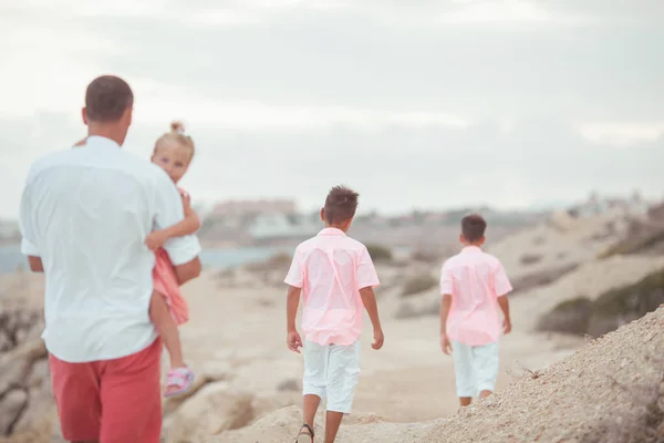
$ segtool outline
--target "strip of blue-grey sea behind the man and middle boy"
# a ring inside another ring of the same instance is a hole
[[[200,261],[205,268],[230,269],[266,260],[279,253],[292,254],[293,250],[286,247],[207,248],[200,253]],[[20,268],[28,268],[25,256],[21,254],[20,246],[0,246],[0,274],[11,274]]]

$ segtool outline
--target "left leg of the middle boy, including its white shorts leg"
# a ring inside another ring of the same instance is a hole
[[[302,379],[302,414],[304,424],[313,429],[321,399],[325,398],[329,347],[304,340],[304,377]],[[304,429],[302,432],[308,433]]]

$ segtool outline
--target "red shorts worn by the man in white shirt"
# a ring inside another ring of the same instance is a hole
[[[90,363],[49,357],[68,441],[159,443],[162,340],[132,356]]]

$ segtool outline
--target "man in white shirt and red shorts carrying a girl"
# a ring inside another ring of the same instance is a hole
[[[37,161],[20,208],[22,251],[45,272],[43,339],[65,440],[158,443],[160,341],[148,318],[155,228],[184,218],[158,166],[124,152],[134,96],[116,76],[85,94],[84,146]],[[198,277],[196,237],[165,245],[181,284]]]

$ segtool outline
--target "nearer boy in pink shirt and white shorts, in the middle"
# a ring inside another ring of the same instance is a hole
[[[325,443],[333,443],[344,414],[351,412],[360,375],[360,336],[363,309],[373,324],[373,349],[383,347],[383,330],[373,288],[378,277],[366,247],[345,235],[351,227],[359,194],[335,186],[328,194],[321,219],[325,228],[295,249],[286,277],[287,344],[304,348],[304,424],[297,443],[313,442],[313,419],[326,398]],[[295,316],[302,292],[302,332]]]

